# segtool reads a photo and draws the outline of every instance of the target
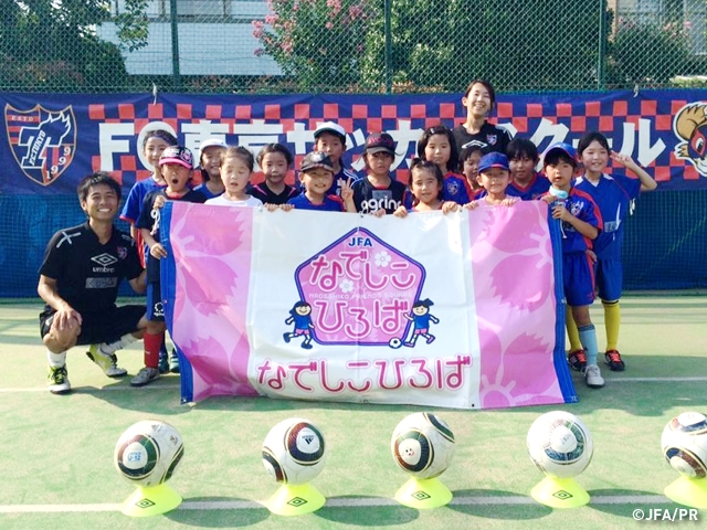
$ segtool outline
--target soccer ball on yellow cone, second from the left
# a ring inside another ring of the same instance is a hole
[[[263,465],[277,483],[297,485],[314,480],[324,469],[325,457],[321,432],[300,417],[279,422],[263,442]]]

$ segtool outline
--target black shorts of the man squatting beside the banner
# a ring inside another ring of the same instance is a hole
[[[42,338],[49,333],[54,321],[54,309],[44,309],[40,314],[40,333]],[[114,342],[126,333],[137,331],[140,319],[145,316],[145,306],[113,306],[99,312],[81,315],[81,333],[76,344],[97,344]]]

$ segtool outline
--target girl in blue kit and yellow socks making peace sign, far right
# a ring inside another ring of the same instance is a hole
[[[606,137],[601,132],[588,132],[578,146],[579,156],[584,166],[584,174],[577,179],[576,188],[594,200],[601,212],[604,230],[594,241],[597,289],[604,307],[606,328],[606,350],[604,362],[613,371],[622,371],[625,363],[618,350],[621,312],[619,299],[623,283],[621,247],[623,226],[629,215],[631,202],[640,192],[655,190],[657,183],[645,170],[627,155],[621,155],[609,148]],[[612,172],[604,173],[609,159],[632,171],[637,179]],[[577,326],[568,319],[570,350],[580,350],[581,341]]]

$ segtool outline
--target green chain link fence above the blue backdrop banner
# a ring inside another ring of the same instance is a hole
[[[0,2],[0,91],[707,86],[705,0]]]

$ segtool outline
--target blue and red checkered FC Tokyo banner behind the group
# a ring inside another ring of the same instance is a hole
[[[141,153],[145,132],[165,128],[198,153],[210,137],[257,151],[285,144],[296,165],[327,120],[349,134],[345,161],[363,169],[369,132],[397,142],[393,168],[405,180],[425,127],[464,120],[461,94],[196,96],[0,94],[0,193],[74,193],[95,170],[125,187],[150,174]],[[577,142],[599,130],[612,148],[648,168],[658,190],[707,189],[707,91],[644,91],[499,96],[492,120],[530,138],[540,152],[551,142]]]

